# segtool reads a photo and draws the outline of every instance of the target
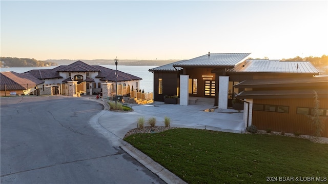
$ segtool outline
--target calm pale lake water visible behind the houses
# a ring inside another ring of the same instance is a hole
[[[115,65],[100,65],[106,68],[110,68],[115,70]],[[1,72],[5,71],[13,71],[17,73],[24,73],[30,70],[42,70],[42,69],[53,69],[57,66],[52,67],[12,67],[12,68],[0,68]],[[117,65],[117,70],[125,73],[129,73],[131,75],[135,75],[137,77],[142,78],[140,80],[140,89],[144,89],[145,92],[153,92],[153,80],[154,74],[149,72],[148,70],[151,68],[155,68],[157,66],[125,66],[125,65]]]

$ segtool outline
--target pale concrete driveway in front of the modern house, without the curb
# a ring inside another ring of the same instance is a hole
[[[100,103],[106,103],[103,99],[98,99]],[[137,128],[137,119],[145,117],[156,118],[156,125],[165,126],[164,118],[171,119],[171,127],[207,129],[214,131],[224,131],[241,133],[245,132],[243,122],[243,112],[233,109],[214,109],[214,112],[207,112],[213,109],[213,105],[171,105],[161,102],[155,102],[151,105],[133,106],[133,112],[119,113],[105,111],[98,114],[97,123],[101,125],[101,132],[110,132],[116,137],[116,146],[122,146],[125,134],[134,128]],[[149,125],[145,125],[149,126]],[[114,140],[114,139],[112,139]]]

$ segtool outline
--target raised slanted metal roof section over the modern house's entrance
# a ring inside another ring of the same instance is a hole
[[[173,67],[219,67],[235,66],[249,56],[251,53],[212,53],[202,55],[193,59],[174,64]]]

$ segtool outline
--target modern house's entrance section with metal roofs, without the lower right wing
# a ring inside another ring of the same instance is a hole
[[[154,100],[165,95],[180,96],[180,105],[190,103],[189,96],[213,98],[214,106],[232,107],[238,88],[245,79],[312,77],[319,71],[310,62],[282,62],[247,59],[251,53],[208,53],[189,60],[149,69],[154,73]]]

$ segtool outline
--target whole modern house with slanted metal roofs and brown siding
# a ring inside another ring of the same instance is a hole
[[[328,116],[328,78],[310,62],[247,59],[250,53],[219,53],[150,69],[154,73],[154,100],[165,95],[212,98],[221,109],[241,101],[245,128],[311,135],[308,116],[313,115],[314,91],[320,99],[320,117]],[[240,100],[238,100],[240,99]],[[245,102],[242,102],[245,101]],[[322,136],[328,137],[328,118]]]

